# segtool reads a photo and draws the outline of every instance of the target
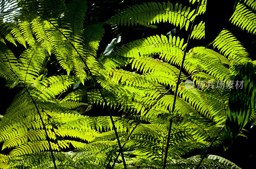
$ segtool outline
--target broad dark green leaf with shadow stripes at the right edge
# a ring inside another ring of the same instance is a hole
[[[243,83],[241,83],[242,81]],[[251,62],[247,62],[241,68],[236,75],[233,87],[229,96],[226,116],[225,150],[234,142],[256,106],[256,74]]]

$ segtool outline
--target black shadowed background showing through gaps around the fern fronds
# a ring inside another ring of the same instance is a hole
[[[70,1],[66,1],[66,4],[68,4]],[[133,4],[140,4],[140,3],[147,3],[151,1],[147,0],[108,0],[108,1],[102,1],[102,0],[93,0],[93,1],[87,1],[88,2],[88,10],[86,14],[85,19],[85,25],[88,24],[96,24],[100,22],[105,22],[107,19],[109,19],[111,16],[113,16],[116,11],[120,11],[124,9],[125,7],[128,7],[129,5]],[[163,1],[154,1],[154,2],[163,2]],[[164,1],[166,2],[166,1]],[[177,0],[179,4],[182,4],[183,6],[190,6],[191,8],[196,8],[197,4],[194,5],[189,4],[189,0]],[[171,1],[172,4],[175,4],[176,1]],[[229,3],[229,1],[223,1],[221,5],[225,5],[223,3]],[[216,13],[212,14],[212,17],[221,17],[221,13],[219,13],[218,9],[216,9]],[[196,21],[198,20],[204,20],[204,16],[198,17]],[[197,24],[197,23],[196,23]],[[109,25],[104,25],[105,28],[105,34],[100,42],[100,47],[98,50],[98,56],[104,52],[106,46],[108,43],[111,42],[112,39],[117,38],[117,36],[121,35],[121,42],[118,43],[116,46],[121,46],[125,43],[128,43],[135,39],[145,38],[147,36],[152,35],[166,35],[167,32],[171,31],[171,29],[175,28],[175,26],[169,24],[169,23],[159,23],[154,24],[157,26],[157,28],[151,28],[151,27],[145,27],[145,26],[119,26],[117,29],[111,29]],[[250,57],[252,60],[255,60],[256,58],[256,36],[248,33],[246,30],[241,30],[239,27],[234,26],[230,22],[227,23],[227,25],[224,26],[225,29],[231,31],[236,38],[242,43],[242,45],[248,50],[250,53]],[[180,38],[187,39],[188,32],[185,31],[185,28],[182,28],[181,30],[179,27],[176,29],[176,36],[179,36]],[[7,44],[9,49],[12,50],[14,55],[18,58],[20,53],[24,51],[24,47],[19,45],[18,48],[16,48],[14,45],[8,43]],[[195,46],[204,46],[204,40],[193,40],[191,39],[189,41],[188,49],[193,48]],[[208,48],[213,49],[212,46],[209,46]],[[49,70],[48,75],[58,75],[58,74],[65,74],[65,71],[58,71],[58,63],[56,60],[54,60],[54,56],[50,56],[51,61],[54,62],[54,66],[52,64],[46,64],[46,68]],[[8,87],[5,87],[6,81],[3,78],[0,78],[0,92],[1,92],[1,103],[0,103],[0,114],[4,115],[5,110],[8,108],[8,106],[11,104],[13,97],[17,94],[19,91],[19,88],[13,88],[9,89]],[[108,112],[106,109],[102,108],[102,106],[96,107],[93,105],[92,109],[88,112],[86,112],[87,116],[108,116]],[[121,116],[120,112],[113,110],[114,116]],[[223,158],[227,158],[228,160],[234,162],[236,165],[243,169],[251,169],[255,168],[255,161],[256,160],[256,127],[251,128],[251,123],[248,123],[245,127],[244,135],[246,137],[239,136],[231,147],[229,147],[226,151],[223,150],[223,147],[220,145],[218,148],[214,148],[209,151],[209,154],[219,155]],[[200,154],[200,150],[195,150],[191,154],[184,156],[184,158],[191,157],[193,155]]]

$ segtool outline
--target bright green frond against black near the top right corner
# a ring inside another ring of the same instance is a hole
[[[256,33],[256,14],[247,9],[244,4],[238,3],[233,16],[230,18],[232,24],[246,29],[253,34]]]

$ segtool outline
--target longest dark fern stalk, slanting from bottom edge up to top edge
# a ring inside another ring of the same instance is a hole
[[[198,11],[198,8],[199,8],[200,3],[201,3],[201,0],[198,2],[197,9],[196,9],[196,14],[197,14],[197,11]],[[186,45],[186,47],[185,47],[185,49],[184,49],[184,54],[183,54],[182,62],[181,62],[181,65],[180,65],[180,72],[179,72],[178,80],[177,80],[177,83],[176,83],[176,88],[175,88],[175,93],[174,93],[174,99],[173,99],[173,104],[172,104],[172,112],[174,112],[174,109],[175,109],[175,102],[176,102],[176,99],[177,99],[178,88],[179,88],[179,83],[180,83],[181,68],[183,67],[183,64],[184,64],[184,61],[185,61],[186,49],[187,49],[187,46],[188,46],[188,42],[189,42],[189,39],[190,39],[190,35],[191,35],[191,32],[192,32],[192,28],[193,28],[193,23],[194,23],[194,21],[195,21],[195,18],[194,18],[194,20],[193,20],[193,22],[192,22],[192,24],[191,24],[190,32],[189,32],[189,34],[188,34],[187,45]],[[166,168],[166,162],[167,162],[167,155],[168,155],[168,149],[169,149],[169,142],[170,142],[171,130],[172,130],[172,118],[170,119],[170,124],[169,124],[169,129],[168,129],[168,136],[167,136],[167,142],[166,142],[166,148],[165,148],[165,154],[164,154],[163,169]]]

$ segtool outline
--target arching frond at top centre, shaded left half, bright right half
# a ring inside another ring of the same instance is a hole
[[[182,5],[176,3],[172,5],[169,1],[167,3],[155,3],[151,2],[148,4],[133,5],[130,8],[119,12],[112,18],[107,20],[108,24],[118,24],[118,25],[137,25],[137,23],[159,23],[167,22],[180,26],[186,27],[188,30],[188,25],[193,21],[195,15],[193,15],[195,10],[190,11],[190,8],[183,7]]]

